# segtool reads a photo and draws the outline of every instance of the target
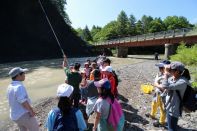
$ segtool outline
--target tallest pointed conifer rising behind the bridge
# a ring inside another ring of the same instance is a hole
[[[124,11],[121,11],[117,18],[118,34],[121,36],[128,35],[129,19]]]

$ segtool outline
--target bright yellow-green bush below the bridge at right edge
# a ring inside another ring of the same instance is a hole
[[[176,51],[177,54],[170,58],[175,61],[181,61],[185,65],[197,65],[197,45],[186,47],[182,42]]]

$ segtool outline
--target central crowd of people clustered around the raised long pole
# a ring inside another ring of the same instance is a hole
[[[118,90],[110,64],[110,59],[100,57],[97,61],[87,60],[84,63],[84,68],[81,68],[80,63],[68,65],[67,58],[64,56],[65,84],[58,87],[58,107],[52,109],[48,114],[46,124],[48,130],[60,129],[61,127],[68,128],[66,125],[71,125],[68,122],[58,126],[56,124],[58,122],[57,118],[64,122],[68,121],[67,116],[72,114],[73,110],[77,110],[74,114],[79,130],[88,129],[88,118],[94,112],[93,131],[123,130],[124,114],[117,100]],[[63,100],[67,100],[67,102],[63,102]],[[85,115],[79,109],[80,104],[86,106]],[[59,114],[62,114],[62,116],[59,117]],[[69,129],[72,128],[74,129],[74,127],[69,126]]]

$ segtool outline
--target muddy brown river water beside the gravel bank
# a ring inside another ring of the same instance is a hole
[[[83,63],[86,58],[69,58],[69,63]],[[93,57],[88,59],[93,60]],[[56,95],[59,84],[64,83],[65,74],[62,69],[62,59],[25,61],[0,64],[0,129],[9,122],[9,107],[6,98],[7,86],[11,82],[8,72],[13,67],[28,68],[26,79],[23,82],[32,102]]]

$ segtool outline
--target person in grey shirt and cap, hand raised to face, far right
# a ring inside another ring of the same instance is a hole
[[[172,76],[169,78],[169,76]],[[185,93],[190,80],[189,71],[181,62],[172,62],[170,66],[165,66],[164,80],[157,87],[161,90],[167,89],[166,113],[169,131],[178,130],[178,118],[181,116],[180,99],[177,94],[179,91],[181,97]]]

